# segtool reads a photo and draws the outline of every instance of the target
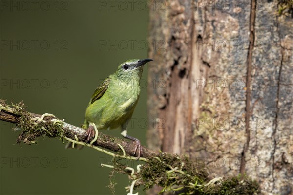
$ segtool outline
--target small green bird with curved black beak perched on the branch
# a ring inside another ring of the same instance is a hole
[[[121,127],[121,135],[136,144],[134,155],[142,154],[140,141],[127,134],[127,125],[132,117],[140,95],[140,79],[144,65],[152,59],[131,59],[118,66],[117,70],[105,78],[95,90],[85,111],[84,129],[87,129],[87,142],[97,129],[116,129]]]

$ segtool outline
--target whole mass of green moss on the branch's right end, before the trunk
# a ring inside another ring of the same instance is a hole
[[[187,156],[160,153],[150,159],[137,174],[139,185],[145,189],[154,185],[163,187],[163,192],[180,195],[259,195],[256,181],[247,176],[224,177],[209,184],[206,168],[197,166]]]

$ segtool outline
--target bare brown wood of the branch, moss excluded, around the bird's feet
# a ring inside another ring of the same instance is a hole
[[[0,103],[3,104],[3,100],[0,100]],[[13,108],[7,107],[0,104],[0,120],[1,121],[6,121],[10,123],[17,123],[18,118],[20,117],[17,115],[14,111]],[[35,114],[35,113],[29,113],[28,114],[31,116],[31,119],[35,117],[41,118],[42,115],[40,114]],[[53,116],[45,116],[44,120],[51,122],[52,119],[57,119],[60,120],[56,117]],[[62,121],[62,120],[61,120]],[[53,122],[52,122],[53,123]],[[64,136],[67,138],[70,138],[72,140],[76,140],[76,137],[78,138],[79,142],[85,142],[86,143],[86,130],[80,127],[76,127],[74,125],[68,124],[63,122],[62,129],[64,131]],[[75,137],[76,136],[76,137]],[[54,137],[54,136],[53,136]],[[123,149],[125,150],[126,154],[129,154],[130,156],[133,156],[134,154],[134,149],[135,149],[135,144],[132,142],[127,142],[121,138],[117,137],[111,137],[109,135],[103,134],[99,132],[98,139],[96,142],[93,143],[94,146],[99,146],[102,148],[105,148],[107,150],[113,151],[113,152],[121,152],[121,148],[118,146],[120,144]],[[151,151],[147,149],[146,147],[143,147],[143,155],[142,157],[145,158],[150,158],[157,152]]]

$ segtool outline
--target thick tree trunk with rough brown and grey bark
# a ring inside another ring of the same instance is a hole
[[[277,0],[150,5],[148,146],[293,193],[292,15]]]

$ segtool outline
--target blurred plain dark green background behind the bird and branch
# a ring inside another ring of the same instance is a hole
[[[0,98],[9,104],[23,100],[30,112],[52,113],[80,126],[99,83],[123,61],[148,57],[146,5],[146,1],[0,0]],[[146,73],[147,65],[135,120],[128,127],[129,135],[143,145]],[[13,127],[0,122],[1,194],[112,194],[106,187],[111,170],[100,166],[110,162],[110,156],[89,148],[65,150],[53,138],[21,147],[15,145],[19,131]],[[104,133],[121,137],[120,130]],[[115,194],[126,194],[127,176],[115,174],[115,179]]]

